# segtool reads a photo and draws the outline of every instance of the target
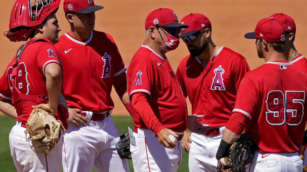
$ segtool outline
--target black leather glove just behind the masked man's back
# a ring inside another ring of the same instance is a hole
[[[120,141],[116,144],[116,150],[121,159],[131,159],[130,152],[130,137],[129,134],[126,133],[120,136]]]

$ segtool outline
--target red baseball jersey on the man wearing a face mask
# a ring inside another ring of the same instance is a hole
[[[143,44],[131,60],[127,87],[130,99],[137,92],[150,95],[148,103],[162,125],[175,132],[185,131],[188,118],[185,97],[166,57]],[[135,127],[147,129],[140,115],[132,117]]]

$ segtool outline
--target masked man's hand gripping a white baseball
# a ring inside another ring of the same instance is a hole
[[[173,135],[174,137],[178,138],[179,136],[171,129],[161,129],[158,133],[158,140],[159,143],[162,144],[165,148],[175,148],[176,144],[169,138],[169,135]]]

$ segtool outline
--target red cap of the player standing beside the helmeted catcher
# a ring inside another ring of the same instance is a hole
[[[76,12],[76,13],[92,13],[99,9],[103,9],[103,6],[97,6],[94,4],[94,0],[64,0],[64,12]]]

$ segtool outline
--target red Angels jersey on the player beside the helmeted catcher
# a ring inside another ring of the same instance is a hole
[[[94,113],[113,109],[112,86],[120,82],[116,77],[121,74],[126,81],[126,66],[112,36],[94,30],[83,42],[67,32],[55,47],[63,65],[64,96],[68,107]],[[123,95],[126,87],[116,91]]]

